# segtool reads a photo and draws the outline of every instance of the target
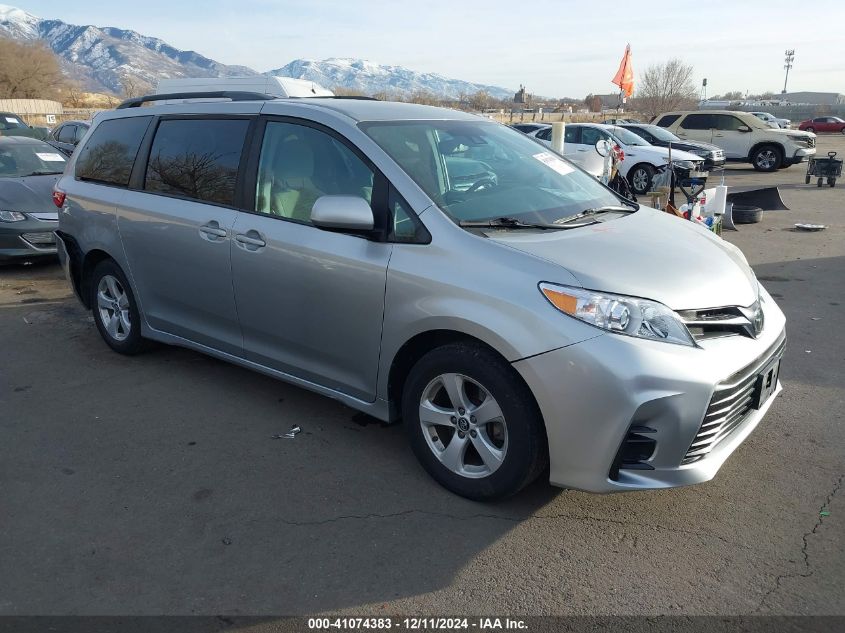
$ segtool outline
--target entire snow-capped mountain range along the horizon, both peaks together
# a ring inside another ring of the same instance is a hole
[[[179,50],[136,31],[42,19],[2,4],[0,37],[44,42],[58,56],[65,75],[92,92],[120,94],[127,82],[154,87],[162,78],[262,74],[246,66],[222,64],[195,51]],[[484,90],[496,98],[513,95],[512,91],[498,86],[355,58],[296,59],[263,74],[308,79],[326,88],[343,87],[365,94],[386,92],[409,95],[426,91],[441,97],[457,98],[461,94]]]

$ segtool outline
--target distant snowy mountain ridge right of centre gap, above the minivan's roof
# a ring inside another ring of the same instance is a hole
[[[484,90],[498,99],[510,98],[514,94],[513,91],[499,86],[485,86],[460,79],[449,79],[435,73],[420,73],[401,66],[385,66],[346,57],[332,57],[322,61],[295,59],[287,66],[266,74],[308,79],[327,88],[343,86],[365,94],[398,92],[409,95],[424,90],[439,96],[457,98],[462,93],[473,94]]]

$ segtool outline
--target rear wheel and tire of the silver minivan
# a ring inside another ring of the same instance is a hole
[[[141,315],[126,275],[114,261],[107,259],[91,273],[91,313],[106,344],[119,354],[132,356],[142,352]]]

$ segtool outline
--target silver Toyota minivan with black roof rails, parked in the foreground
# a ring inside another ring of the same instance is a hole
[[[57,184],[61,260],[115,351],[402,420],[473,499],[709,480],[780,391],[784,315],[712,232],[474,115],[227,97],[98,116]]]

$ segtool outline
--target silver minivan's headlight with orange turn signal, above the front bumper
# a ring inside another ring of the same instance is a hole
[[[555,308],[595,327],[637,338],[695,347],[689,330],[672,310],[656,301],[540,283]]]

